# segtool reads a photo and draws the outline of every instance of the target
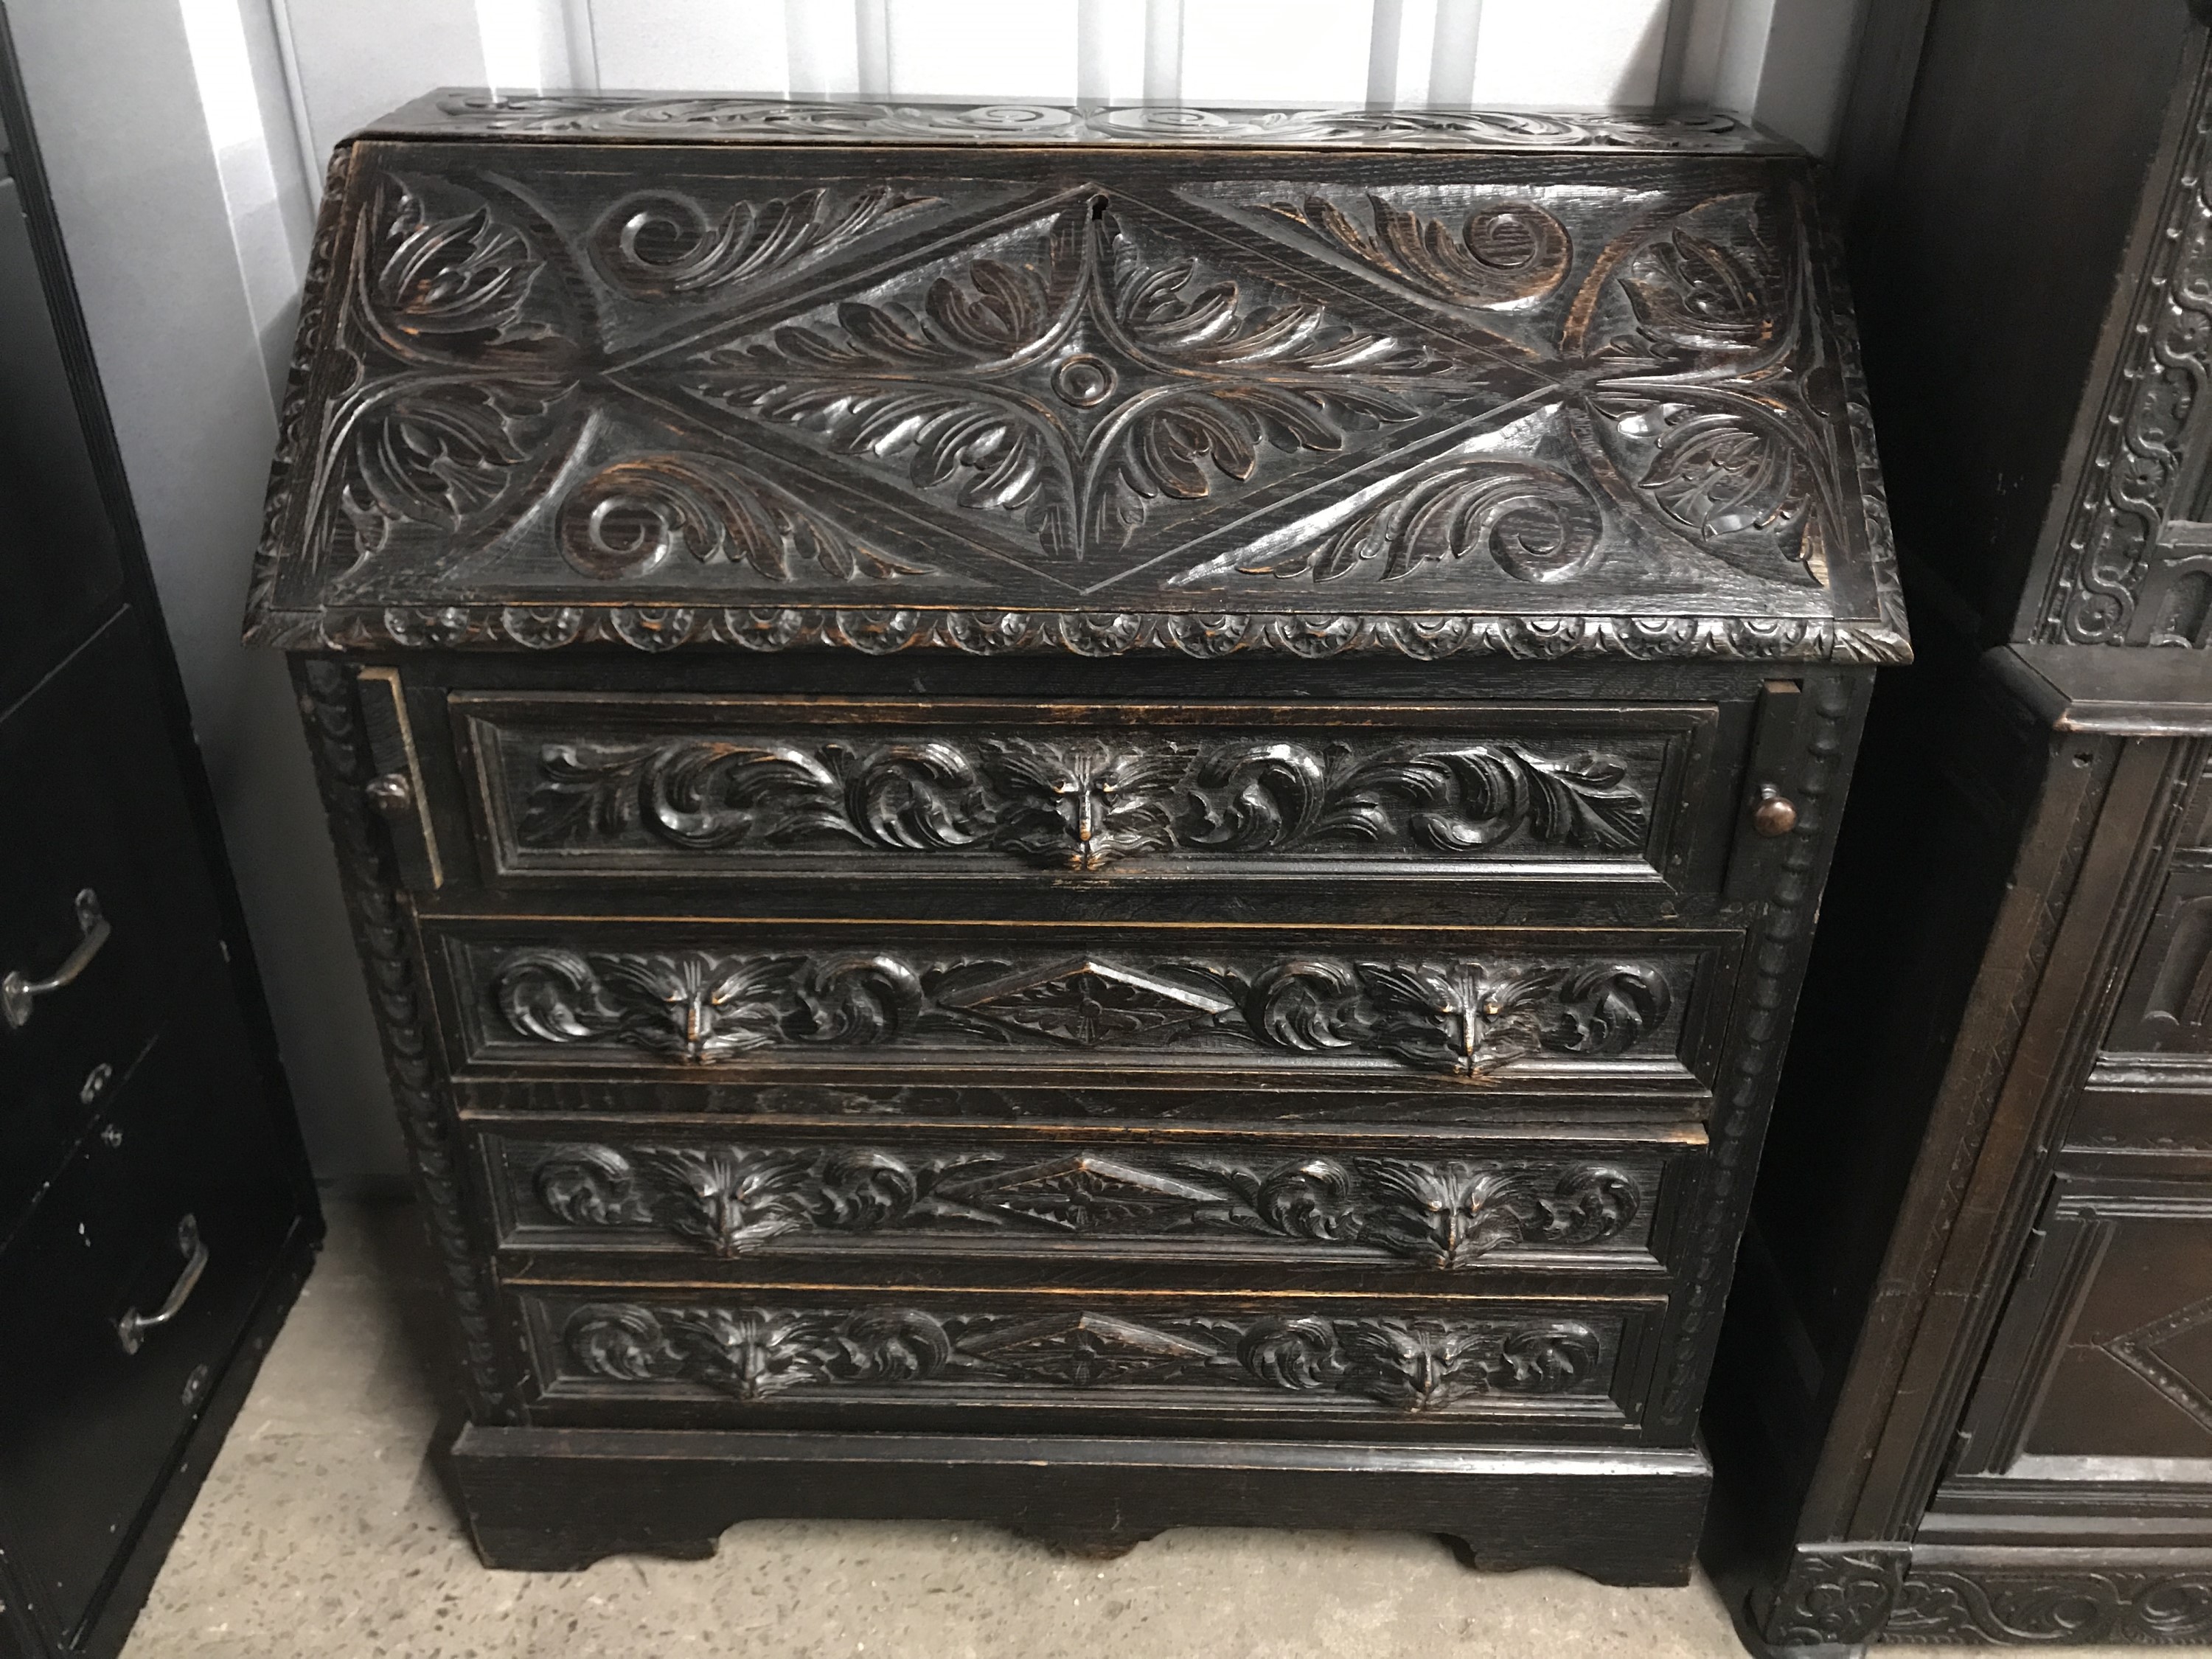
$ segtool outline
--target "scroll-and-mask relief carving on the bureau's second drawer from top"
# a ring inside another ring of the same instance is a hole
[[[1113,1051],[1210,1040],[1398,1060],[1467,1079],[1544,1053],[1626,1055],[1674,1004],[1666,969],[1606,958],[1243,964],[1077,956],[1018,967],[557,947],[498,956],[484,998],[531,1044],[622,1046],[690,1064],[810,1044]]]

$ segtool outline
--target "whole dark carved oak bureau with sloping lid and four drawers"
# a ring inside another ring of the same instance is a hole
[[[1681,1582],[1907,641],[1725,117],[434,95],[294,657],[498,1566],[748,1515]]]

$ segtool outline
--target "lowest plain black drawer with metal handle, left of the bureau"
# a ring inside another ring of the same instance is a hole
[[[60,1644],[97,1610],[294,1219],[274,1137],[173,1035],[113,1102],[0,1254],[0,1509]]]

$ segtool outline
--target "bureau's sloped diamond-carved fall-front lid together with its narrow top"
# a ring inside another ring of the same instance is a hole
[[[1832,265],[1728,117],[442,93],[248,637],[1900,661]]]

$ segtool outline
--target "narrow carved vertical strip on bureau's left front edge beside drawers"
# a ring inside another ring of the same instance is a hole
[[[400,880],[385,825],[369,812],[363,794],[376,765],[361,726],[354,677],[332,661],[296,659],[294,686],[323,810],[330,814],[330,838],[338,852],[354,945],[383,1037],[385,1075],[407,1135],[422,1219],[453,1303],[469,1413],[478,1422],[513,1422],[515,1402],[500,1383],[491,1334],[491,1285],[462,1221],[460,1152],[434,1082],[429,993],[416,971],[414,925],[398,896]]]

